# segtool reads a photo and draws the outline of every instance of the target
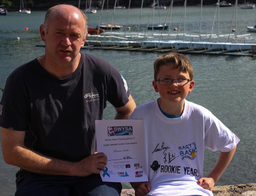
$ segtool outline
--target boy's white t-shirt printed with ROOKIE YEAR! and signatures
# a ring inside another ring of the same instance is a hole
[[[204,148],[229,152],[240,141],[209,110],[185,100],[179,118],[168,118],[157,99],[137,107],[130,119],[143,119],[148,195],[212,196],[197,185],[204,177]]]

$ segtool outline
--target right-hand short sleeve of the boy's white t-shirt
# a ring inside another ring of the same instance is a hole
[[[240,140],[219,119],[213,117],[212,124],[205,134],[204,145],[212,151],[231,151]]]

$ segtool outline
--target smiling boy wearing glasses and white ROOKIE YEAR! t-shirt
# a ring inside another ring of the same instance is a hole
[[[191,62],[169,53],[154,63],[153,86],[160,98],[137,107],[130,119],[143,119],[149,182],[131,183],[136,196],[212,196],[214,184],[240,141],[209,110],[185,98],[194,87]],[[207,177],[204,148],[221,150]]]

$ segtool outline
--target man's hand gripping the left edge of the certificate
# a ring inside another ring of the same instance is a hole
[[[99,174],[107,165],[107,156],[100,152],[90,155],[81,161],[75,162],[71,168],[74,176],[88,176],[90,174]]]

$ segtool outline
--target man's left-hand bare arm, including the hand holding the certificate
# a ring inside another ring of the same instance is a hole
[[[107,164],[103,153],[90,155],[78,162],[68,162],[41,155],[24,146],[25,131],[1,127],[1,142],[4,161],[24,170],[39,174],[88,176],[98,174]]]

